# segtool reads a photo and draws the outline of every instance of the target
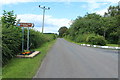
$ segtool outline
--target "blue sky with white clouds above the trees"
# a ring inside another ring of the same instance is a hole
[[[118,5],[119,0],[0,0],[2,10],[17,14],[21,22],[34,23],[34,29],[41,31],[43,10],[38,6],[50,7],[45,13],[46,33],[58,33],[62,26],[69,27],[77,16],[87,12],[103,15],[110,5]],[[2,15],[3,11],[0,11]]]

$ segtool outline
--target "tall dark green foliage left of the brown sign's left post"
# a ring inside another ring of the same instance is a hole
[[[14,26],[16,16],[13,11],[4,11],[2,20],[2,63],[6,64],[9,59],[20,52],[21,29]]]

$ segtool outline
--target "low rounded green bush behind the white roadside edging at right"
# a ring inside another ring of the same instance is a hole
[[[86,39],[86,42],[92,45],[101,45],[104,46],[106,45],[106,40],[103,36],[100,35],[92,35],[92,36],[88,36]]]

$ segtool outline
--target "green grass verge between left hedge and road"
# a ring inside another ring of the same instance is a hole
[[[33,58],[13,58],[3,67],[3,78],[32,78],[41,65],[48,50],[55,43],[54,41],[43,44],[40,48],[34,49],[41,54]]]

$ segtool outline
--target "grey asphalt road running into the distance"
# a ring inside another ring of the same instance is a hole
[[[118,78],[118,54],[58,38],[34,78]]]

